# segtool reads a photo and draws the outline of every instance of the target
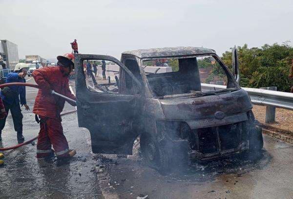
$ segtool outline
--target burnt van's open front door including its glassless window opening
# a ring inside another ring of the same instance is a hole
[[[117,85],[92,74],[92,78],[86,78],[91,72],[86,70],[85,75],[84,62],[100,63],[103,60],[113,63],[106,68],[108,75],[112,75],[109,80],[117,80]],[[121,92],[120,88],[125,90],[130,81],[141,89],[140,82],[119,60],[106,55],[75,54],[75,76],[78,124],[89,130],[93,153],[131,155],[133,142],[139,134],[136,125],[139,124],[137,114],[140,112],[141,95]],[[99,89],[92,80],[106,89]]]

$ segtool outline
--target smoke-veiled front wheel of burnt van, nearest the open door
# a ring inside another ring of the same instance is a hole
[[[140,146],[147,164],[161,173],[169,170],[169,155],[164,146],[151,136],[143,133],[140,138]]]

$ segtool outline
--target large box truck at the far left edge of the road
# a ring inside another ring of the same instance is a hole
[[[0,65],[4,63],[13,70],[19,63],[18,46],[8,40],[0,40]]]

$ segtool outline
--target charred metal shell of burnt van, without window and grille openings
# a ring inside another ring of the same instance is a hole
[[[188,97],[184,95],[182,98],[171,96],[168,99],[154,97],[142,66],[143,61],[209,55],[213,56],[222,66],[228,78],[230,78],[229,81],[235,85],[235,89],[226,89],[225,92],[212,96]],[[128,59],[134,60],[138,64],[142,77],[141,81],[124,65]],[[141,94],[135,96],[90,91],[85,85],[82,65],[84,60],[107,60],[116,63],[139,86]],[[215,128],[217,152],[202,154],[196,150],[189,150],[189,158],[209,160],[239,153],[249,148],[248,140],[239,141],[237,147],[233,149],[222,150],[221,148],[219,126],[236,124],[239,129],[238,136],[242,137],[240,124],[249,120],[248,112],[251,111],[252,104],[247,92],[239,87],[228,67],[215,54],[214,50],[178,47],[127,51],[122,54],[121,62],[111,56],[75,54],[75,64],[79,126],[90,131],[94,153],[132,154],[133,141],[142,133],[148,133],[156,137],[156,140],[162,145],[169,140],[174,148],[177,145],[187,144],[186,139],[172,140],[166,132],[160,132],[160,127],[157,125],[158,121],[185,122],[191,131],[201,128]],[[106,111],[109,114],[105,116],[103,114]],[[126,116],[120,114],[119,111],[124,111],[123,114]],[[132,114],[131,111],[136,112]],[[217,118],[216,111],[224,113],[224,117]],[[103,114],[100,115],[100,113]],[[93,118],[88,118],[92,114],[94,115]],[[108,121],[110,119],[111,121]],[[118,139],[119,136],[121,136],[121,139]]]

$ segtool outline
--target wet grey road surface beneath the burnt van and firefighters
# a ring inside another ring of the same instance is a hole
[[[33,79],[28,82],[34,83]],[[74,83],[72,83],[74,84]],[[32,107],[37,89],[27,88],[30,111],[23,109],[25,139],[36,136],[39,125]],[[66,104],[65,111],[74,110]],[[235,155],[209,163],[194,163],[161,175],[146,166],[135,143],[127,158],[95,155],[90,134],[78,128],[77,114],[63,116],[63,131],[77,155],[69,161],[38,161],[36,145],[4,152],[0,167],[1,199],[292,199],[293,146],[264,135],[261,154]],[[9,115],[0,147],[17,144]]]

